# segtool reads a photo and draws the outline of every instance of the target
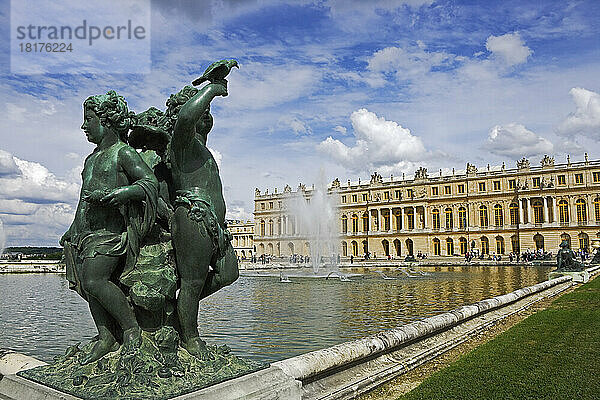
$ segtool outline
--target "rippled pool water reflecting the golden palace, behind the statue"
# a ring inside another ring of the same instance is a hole
[[[198,316],[209,344],[276,361],[357,339],[544,281],[548,268],[436,267],[430,275],[362,272],[336,279],[244,276],[203,301]],[[0,348],[51,361],[96,334],[87,303],[64,275],[0,275]]]

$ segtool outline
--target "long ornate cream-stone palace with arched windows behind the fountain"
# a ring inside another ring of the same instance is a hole
[[[600,160],[555,164],[545,156],[532,166],[523,158],[516,168],[430,176],[419,168],[413,179],[383,178],[328,188],[338,203],[339,254],[399,257],[417,252],[463,255],[529,249],[556,253],[561,240],[589,251],[600,231]],[[291,199],[310,201],[314,189],[255,192],[254,245],[257,255],[308,254],[308,238],[296,229]]]

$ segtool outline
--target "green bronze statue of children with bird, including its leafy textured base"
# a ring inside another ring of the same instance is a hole
[[[208,84],[171,95],[165,112],[135,115],[114,91],[86,99],[82,129],[96,148],[60,242],[98,335],[21,376],[82,398],[166,399],[264,367],[208,346],[197,327],[199,302],[238,278],[206,147],[210,103],[237,66],[211,64],[193,82]]]

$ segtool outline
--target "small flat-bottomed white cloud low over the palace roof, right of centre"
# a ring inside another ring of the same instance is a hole
[[[549,140],[515,123],[494,126],[489,132],[487,145],[491,153],[512,158],[554,152],[554,145]]]

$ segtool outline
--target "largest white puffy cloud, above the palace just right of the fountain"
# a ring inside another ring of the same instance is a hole
[[[329,136],[317,148],[351,171],[405,172],[428,155],[421,139],[394,121],[364,108],[353,112],[350,120],[354,146]]]

